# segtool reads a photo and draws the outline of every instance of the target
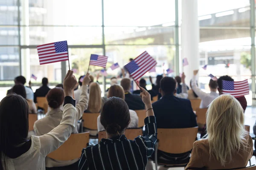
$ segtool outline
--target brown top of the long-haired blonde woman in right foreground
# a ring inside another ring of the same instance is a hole
[[[253,140],[249,135],[247,136],[246,140],[247,147],[240,148],[239,152],[234,151],[232,155],[232,161],[225,164],[225,167],[221,166],[221,163],[217,161],[213,156],[210,159],[208,139],[196,141],[193,144],[194,147],[191,153],[191,158],[185,170],[202,167],[207,170],[246,167],[249,159],[253,156]]]

